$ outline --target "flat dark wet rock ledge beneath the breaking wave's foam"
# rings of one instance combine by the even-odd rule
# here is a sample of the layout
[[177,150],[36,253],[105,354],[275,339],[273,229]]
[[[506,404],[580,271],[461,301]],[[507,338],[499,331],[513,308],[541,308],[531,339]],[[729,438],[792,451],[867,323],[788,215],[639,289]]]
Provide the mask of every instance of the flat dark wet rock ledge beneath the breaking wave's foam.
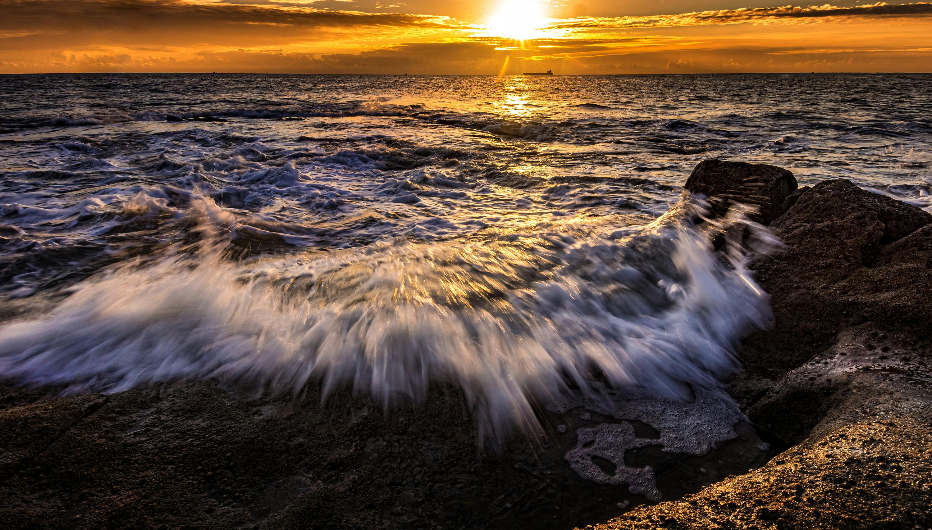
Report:
[[[656,443],[636,421],[583,407],[545,413],[546,436],[496,452],[480,448],[452,387],[388,413],[348,395],[321,405],[312,389],[253,392],[189,383],[5,401],[4,527],[569,528],[648,500],[586,481],[566,460],[577,432],[600,425]],[[761,450],[747,423],[734,429],[705,455],[626,457],[652,466],[657,491],[677,498],[777,453]]]

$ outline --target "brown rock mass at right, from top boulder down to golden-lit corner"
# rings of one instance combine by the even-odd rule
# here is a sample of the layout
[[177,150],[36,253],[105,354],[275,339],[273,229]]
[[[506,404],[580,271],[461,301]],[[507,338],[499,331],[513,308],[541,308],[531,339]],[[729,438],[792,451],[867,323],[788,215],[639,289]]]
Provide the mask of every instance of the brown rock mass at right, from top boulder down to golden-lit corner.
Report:
[[594,528],[932,527],[932,215],[843,179],[796,191],[777,170],[708,160],[686,187],[758,204],[785,244],[751,260],[774,322],[744,341],[730,390],[791,447]]

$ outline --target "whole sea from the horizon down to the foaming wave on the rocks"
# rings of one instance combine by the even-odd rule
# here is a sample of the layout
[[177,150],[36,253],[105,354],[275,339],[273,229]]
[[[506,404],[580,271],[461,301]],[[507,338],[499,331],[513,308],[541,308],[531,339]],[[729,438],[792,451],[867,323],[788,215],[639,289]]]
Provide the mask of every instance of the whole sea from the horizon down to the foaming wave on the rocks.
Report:
[[713,385],[766,294],[654,220],[707,157],[932,208],[930,81],[2,76],[0,374],[453,380],[493,433],[596,379]]

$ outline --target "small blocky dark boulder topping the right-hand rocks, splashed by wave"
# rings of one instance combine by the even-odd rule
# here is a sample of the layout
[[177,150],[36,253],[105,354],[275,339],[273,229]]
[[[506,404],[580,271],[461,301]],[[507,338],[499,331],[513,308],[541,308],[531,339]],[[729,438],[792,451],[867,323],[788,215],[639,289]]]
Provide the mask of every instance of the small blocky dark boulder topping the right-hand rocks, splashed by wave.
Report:
[[796,191],[796,177],[789,170],[765,164],[711,159],[692,170],[684,187],[710,198],[713,213],[727,210],[732,202],[759,207],[759,220],[770,224],[782,214],[787,197]]

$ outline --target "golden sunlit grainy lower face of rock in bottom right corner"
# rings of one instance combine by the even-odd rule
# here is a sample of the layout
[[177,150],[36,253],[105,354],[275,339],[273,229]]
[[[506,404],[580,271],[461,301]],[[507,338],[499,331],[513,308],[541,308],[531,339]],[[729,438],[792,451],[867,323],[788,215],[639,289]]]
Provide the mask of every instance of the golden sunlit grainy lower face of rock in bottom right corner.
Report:
[[[926,528],[932,517],[928,514],[927,480],[932,466],[926,458],[932,456],[929,428],[898,422],[893,427],[871,425],[870,422],[837,428],[788,450],[783,464],[772,461],[762,469],[713,484],[706,490],[675,502],[640,507],[596,530],[653,529],[661,516],[676,517],[680,528],[746,528],[754,522],[760,528],[774,528],[783,520],[787,528],[880,528],[889,521],[896,528]],[[881,434],[882,433],[882,434]],[[870,437],[881,436],[884,444],[864,445]],[[909,455],[910,466],[898,477],[896,486],[872,483],[870,492],[847,484],[865,483],[879,470],[875,464],[842,467],[837,455],[851,452]],[[784,496],[781,490],[792,489],[804,481],[806,498]],[[845,484],[845,485],[841,485]],[[755,507],[763,499],[764,506]],[[695,502],[695,506],[690,504]],[[733,501],[735,505],[731,508]]]

